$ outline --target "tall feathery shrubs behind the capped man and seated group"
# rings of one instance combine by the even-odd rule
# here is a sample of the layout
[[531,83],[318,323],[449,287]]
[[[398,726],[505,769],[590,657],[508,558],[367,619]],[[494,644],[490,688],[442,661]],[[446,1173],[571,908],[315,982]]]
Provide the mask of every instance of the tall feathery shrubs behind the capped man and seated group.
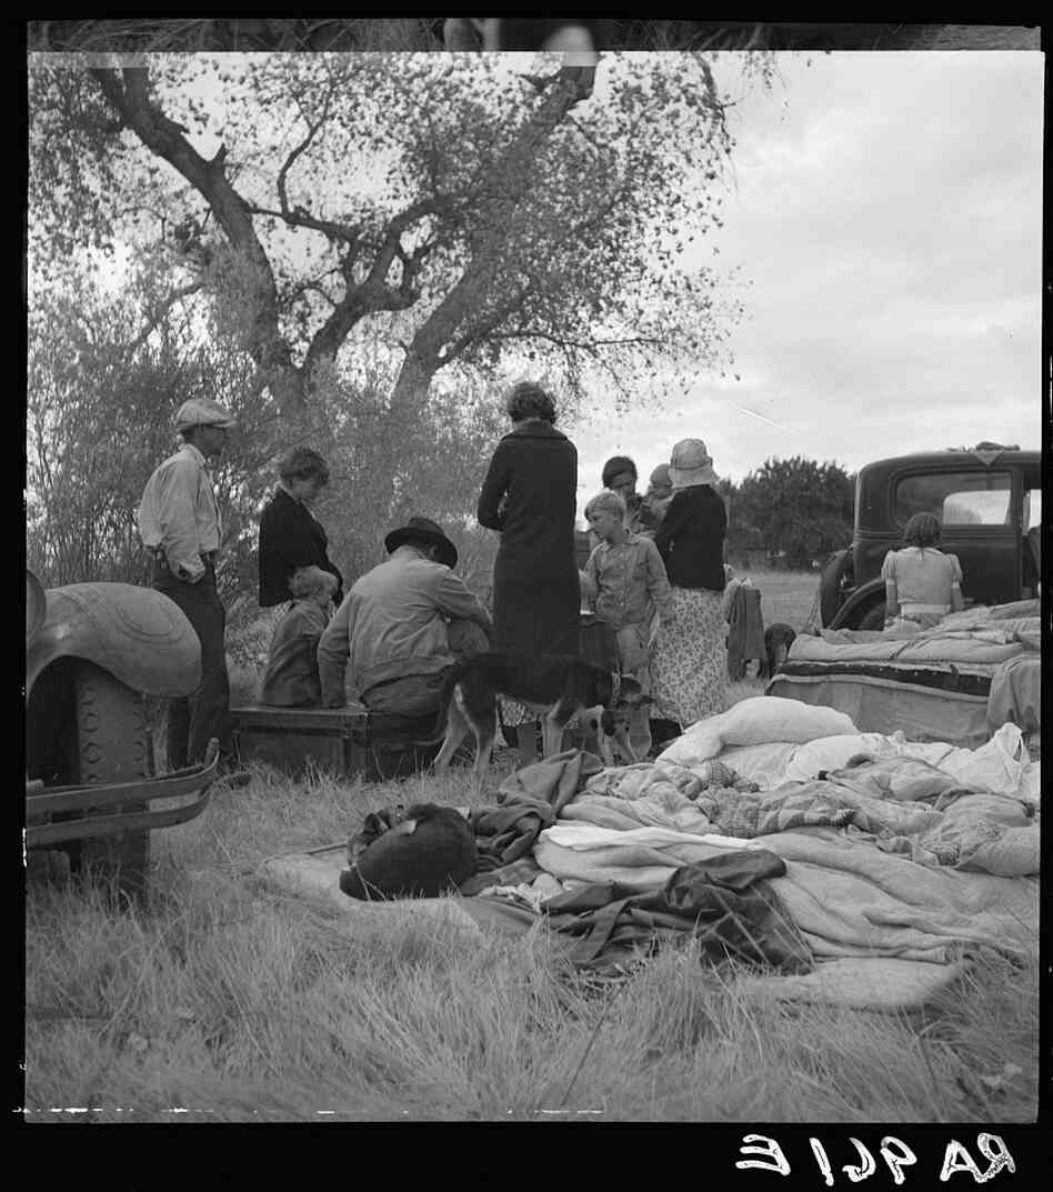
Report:
[[[118,293],[100,294],[81,279],[35,298],[26,548],[45,586],[147,581],[136,522],[143,488],[177,446],[177,406],[219,393],[238,420],[213,466],[224,521],[218,578],[235,631],[257,611],[258,513],[278,479],[276,455],[294,442],[330,462],[318,515],[349,583],[384,557],[387,530],[426,513],[457,544],[460,572],[486,594],[494,545],[468,515],[504,428],[484,393],[436,392],[404,424],[384,361],[367,361],[361,384],[319,380],[314,409],[291,430],[253,384],[253,361],[213,317],[216,308],[200,296],[166,303],[168,284],[158,262],[147,260]],[[148,335],[136,333],[142,325]]]

